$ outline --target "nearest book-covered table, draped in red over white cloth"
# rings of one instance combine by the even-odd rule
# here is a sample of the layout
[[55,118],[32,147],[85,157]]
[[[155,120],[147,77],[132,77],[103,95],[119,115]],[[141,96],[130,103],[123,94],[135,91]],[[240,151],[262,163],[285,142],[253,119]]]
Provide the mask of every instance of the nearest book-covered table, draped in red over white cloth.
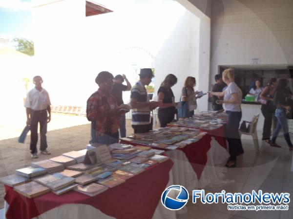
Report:
[[33,162],[0,178],[6,218],[175,219],[160,201],[173,184],[172,165],[166,156],[121,144],[93,144]]

